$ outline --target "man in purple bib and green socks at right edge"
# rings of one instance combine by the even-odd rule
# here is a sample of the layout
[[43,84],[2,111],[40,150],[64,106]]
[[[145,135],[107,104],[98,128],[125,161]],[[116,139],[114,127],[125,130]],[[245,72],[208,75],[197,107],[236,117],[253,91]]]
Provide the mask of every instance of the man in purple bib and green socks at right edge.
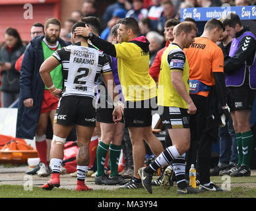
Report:
[[[253,153],[253,133],[250,118],[255,98],[256,37],[248,26],[243,27],[240,17],[230,13],[223,22],[232,40],[229,57],[224,63],[228,106],[236,131],[238,165],[231,176],[250,176],[250,160]],[[248,74],[250,73],[250,74]]]

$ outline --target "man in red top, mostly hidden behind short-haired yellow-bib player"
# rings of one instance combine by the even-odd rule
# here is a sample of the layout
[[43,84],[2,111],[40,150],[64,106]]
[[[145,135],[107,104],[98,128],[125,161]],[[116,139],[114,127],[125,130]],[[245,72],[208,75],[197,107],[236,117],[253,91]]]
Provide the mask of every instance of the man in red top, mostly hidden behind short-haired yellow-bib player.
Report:
[[[177,24],[179,24],[179,20],[175,18],[171,18],[167,20],[166,23],[164,24],[164,36],[166,38],[166,47],[168,47],[170,42],[174,40],[173,30],[174,30],[174,26],[176,26]],[[156,54],[156,58],[154,59],[154,63],[149,69],[150,76],[156,81],[158,81],[158,76],[160,73],[161,58],[166,47],[158,51],[158,53]]]

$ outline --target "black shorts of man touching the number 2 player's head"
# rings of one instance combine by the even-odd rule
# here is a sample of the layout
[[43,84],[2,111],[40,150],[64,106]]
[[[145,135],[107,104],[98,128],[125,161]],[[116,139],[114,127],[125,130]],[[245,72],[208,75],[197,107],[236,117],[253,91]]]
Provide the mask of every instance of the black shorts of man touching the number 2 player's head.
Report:
[[157,99],[139,102],[125,102],[123,117],[125,127],[149,127],[152,125],[152,111],[158,109]]

